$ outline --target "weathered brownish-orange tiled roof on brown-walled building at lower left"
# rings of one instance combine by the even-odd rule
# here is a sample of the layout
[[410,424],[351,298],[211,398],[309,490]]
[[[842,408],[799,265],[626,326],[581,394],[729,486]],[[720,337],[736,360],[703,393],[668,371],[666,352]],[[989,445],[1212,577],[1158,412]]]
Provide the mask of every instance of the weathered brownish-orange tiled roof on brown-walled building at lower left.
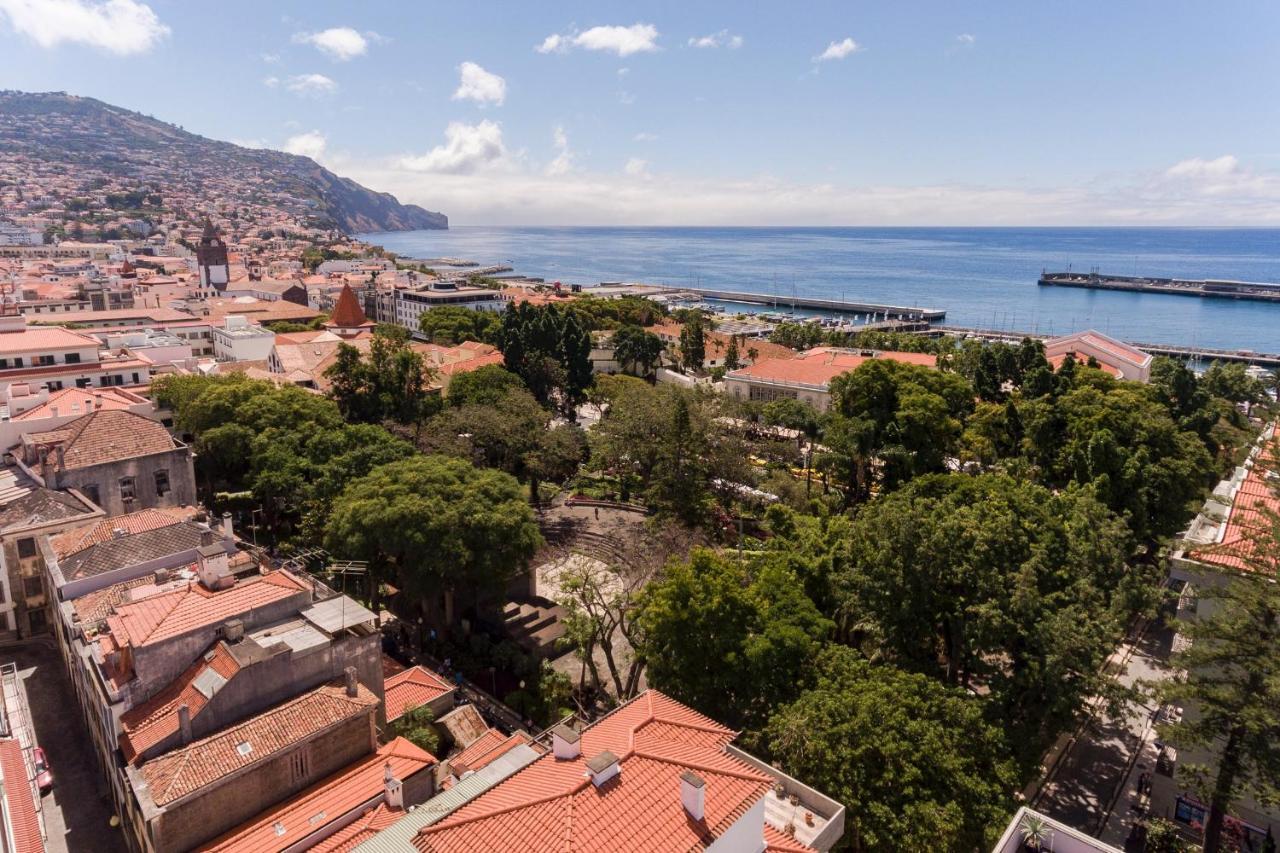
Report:
[[138,772],[146,780],[151,800],[165,806],[375,707],[378,697],[364,685],[357,685],[356,695],[349,697],[340,684],[326,684],[152,758]]

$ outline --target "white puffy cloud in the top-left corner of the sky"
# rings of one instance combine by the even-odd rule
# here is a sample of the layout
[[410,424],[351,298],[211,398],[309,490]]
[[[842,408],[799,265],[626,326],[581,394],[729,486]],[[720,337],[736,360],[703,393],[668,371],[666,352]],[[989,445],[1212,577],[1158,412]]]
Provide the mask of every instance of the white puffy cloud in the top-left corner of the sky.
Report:
[[0,0],[0,13],[41,47],[79,44],[118,56],[145,54],[170,32],[137,0]]

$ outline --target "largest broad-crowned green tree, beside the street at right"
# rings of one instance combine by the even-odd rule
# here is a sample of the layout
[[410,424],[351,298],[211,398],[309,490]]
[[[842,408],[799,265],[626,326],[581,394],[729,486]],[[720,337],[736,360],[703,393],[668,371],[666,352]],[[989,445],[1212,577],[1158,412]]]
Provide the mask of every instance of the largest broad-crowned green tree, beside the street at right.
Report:
[[919,478],[867,505],[836,580],[850,639],[988,694],[1024,758],[1101,690],[1123,633],[1132,538],[1088,491]]

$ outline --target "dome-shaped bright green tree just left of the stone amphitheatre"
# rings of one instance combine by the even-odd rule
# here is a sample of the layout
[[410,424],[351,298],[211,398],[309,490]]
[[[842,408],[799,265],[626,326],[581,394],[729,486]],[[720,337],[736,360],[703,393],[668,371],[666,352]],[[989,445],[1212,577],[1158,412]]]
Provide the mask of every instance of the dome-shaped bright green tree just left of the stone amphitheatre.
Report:
[[439,616],[444,596],[500,596],[541,543],[520,484],[447,456],[380,465],[333,503],[325,547],[367,560],[375,590],[396,583]]

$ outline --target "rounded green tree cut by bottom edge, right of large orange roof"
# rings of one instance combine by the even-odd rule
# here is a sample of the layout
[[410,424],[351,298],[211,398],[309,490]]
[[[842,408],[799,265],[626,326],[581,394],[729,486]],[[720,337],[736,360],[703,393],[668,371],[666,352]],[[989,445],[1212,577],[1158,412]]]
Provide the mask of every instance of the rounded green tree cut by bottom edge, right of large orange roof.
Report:
[[979,699],[828,648],[817,685],[780,708],[768,749],[846,807],[852,850],[988,849],[1016,784]]

